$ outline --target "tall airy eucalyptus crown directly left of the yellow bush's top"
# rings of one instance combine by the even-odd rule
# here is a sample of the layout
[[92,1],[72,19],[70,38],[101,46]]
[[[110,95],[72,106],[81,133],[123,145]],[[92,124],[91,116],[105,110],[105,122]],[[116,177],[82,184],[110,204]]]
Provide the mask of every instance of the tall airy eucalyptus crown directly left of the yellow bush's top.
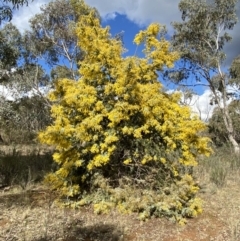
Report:
[[[77,80],[79,77],[77,67],[84,53],[78,47],[75,28],[79,16],[92,9],[83,10],[81,3],[81,0],[50,2],[30,20],[30,30],[25,33],[26,50],[31,53],[26,55],[26,59],[48,64],[53,79],[70,77]],[[94,11],[100,18],[97,10]]]

